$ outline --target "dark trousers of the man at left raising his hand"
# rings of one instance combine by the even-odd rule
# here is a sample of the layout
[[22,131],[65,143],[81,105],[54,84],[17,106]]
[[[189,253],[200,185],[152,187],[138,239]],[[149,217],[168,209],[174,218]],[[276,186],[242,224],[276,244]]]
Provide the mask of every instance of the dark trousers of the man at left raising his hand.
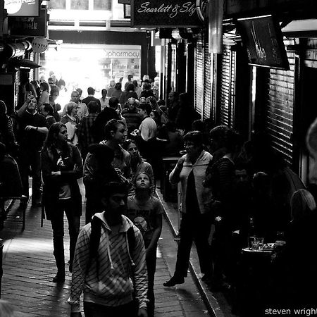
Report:
[[22,194],[29,197],[29,173],[32,176],[32,200],[41,198],[41,158],[39,151],[26,151],[20,149],[18,165],[22,180]]

